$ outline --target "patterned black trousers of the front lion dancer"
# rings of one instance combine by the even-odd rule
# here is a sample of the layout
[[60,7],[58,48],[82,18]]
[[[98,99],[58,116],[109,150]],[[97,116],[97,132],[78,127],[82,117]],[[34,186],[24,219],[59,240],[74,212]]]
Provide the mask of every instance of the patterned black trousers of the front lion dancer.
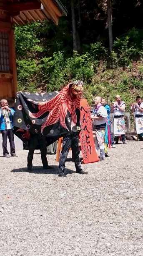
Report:
[[65,170],[65,162],[66,162],[70,147],[72,149],[73,161],[75,162],[76,171],[80,172],[82,170],[80,165],[80,157],[79,157],[80,149],[78,146],[78,135],[68,134],[63,137],[63,148],[62,148],[60,159],[59,159],[60,174],[63,173]]

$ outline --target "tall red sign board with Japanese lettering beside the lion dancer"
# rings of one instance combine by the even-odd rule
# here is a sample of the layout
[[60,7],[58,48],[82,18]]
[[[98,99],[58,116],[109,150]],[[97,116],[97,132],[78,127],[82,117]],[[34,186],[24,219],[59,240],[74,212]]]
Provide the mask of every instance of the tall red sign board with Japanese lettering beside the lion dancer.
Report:
[[80,145],[83,154],[83,163],[98,162],[99,158],[95,150],[95,144],[93,139],[92,120],[90,118],[90,106],[86,98],[80,99]]

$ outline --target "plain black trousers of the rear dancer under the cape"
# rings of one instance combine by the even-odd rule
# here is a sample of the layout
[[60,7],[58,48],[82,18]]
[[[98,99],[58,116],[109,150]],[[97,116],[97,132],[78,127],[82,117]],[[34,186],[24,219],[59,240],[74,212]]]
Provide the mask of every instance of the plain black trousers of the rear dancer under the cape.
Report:
[[35,147],[39,145],[40,146],[40,152],[41,152],[41,159],[43,163],[43,167],[48,165],[47,161],[47,144],[45,137],[39,136],[37,134],[33,134],[30,138],[30,144],[29,144],[29,152],[28,152],[28,168],[32,168],[32,160],[34,155]]

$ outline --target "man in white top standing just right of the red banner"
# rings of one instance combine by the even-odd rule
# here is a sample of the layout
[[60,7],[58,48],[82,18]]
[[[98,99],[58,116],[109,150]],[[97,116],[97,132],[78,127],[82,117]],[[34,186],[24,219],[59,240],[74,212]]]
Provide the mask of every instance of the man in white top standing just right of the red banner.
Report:
[[101,104],[101,97],[95,97],[95,109],[91,114],[91,119],[95,126],[95,146],[96,149],[100,149],[100,161],[104,159],[104,138],[105,138],[105,127],[106,118],[108,116],[107,110]]

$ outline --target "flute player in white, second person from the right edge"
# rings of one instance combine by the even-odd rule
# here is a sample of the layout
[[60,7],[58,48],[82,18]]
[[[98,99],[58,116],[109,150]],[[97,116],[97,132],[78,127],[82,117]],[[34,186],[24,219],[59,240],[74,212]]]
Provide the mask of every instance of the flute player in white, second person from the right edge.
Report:
[[115,96],[115,102],[112,104],[111,112],[114,113],[115,144],[118,144],[120,136],[122,137],[123,144],[125,144],[125,102],[120,99],[120,95]]

